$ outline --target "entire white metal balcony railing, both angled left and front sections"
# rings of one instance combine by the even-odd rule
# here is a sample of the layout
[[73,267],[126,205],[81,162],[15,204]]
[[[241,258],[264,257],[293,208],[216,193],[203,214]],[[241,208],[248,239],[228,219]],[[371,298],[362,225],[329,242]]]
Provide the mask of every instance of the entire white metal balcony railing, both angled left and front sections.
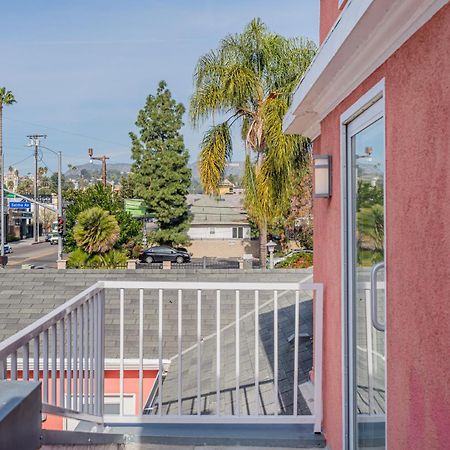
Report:
[[[104,398],[104,359],[105,359],[105,296],[107,290],[108,305],[117,305],[117,316],[108,319],[107,332],[111,327],[118,328],[119,354],[119,390],[120,414],[103,417]],[[311,414],[299,410],[299,349],[302,335],[300,333],[301,300],[311,299],[314,294],[314,404]],[[281,342],[280,333],[283,324],[280,315],[285,318],[280,303],[289,296],[289,317],[294,321],[293,342],[289,360],[290,378],[279,379],[281,370],[280,352],[287,343]],[[208,309],[205,307],[208,306]],[[292,308],[291,308],[292,307]],[[187,313],[186,313],[186,308]],[[154,336],[148,330],[148,316],[153,323]],[[209,316],[205,317],[208,311]],[[273,323],[270,330],[261,328],[263,311],[269,311]],[[224,323],[221,316],[233,317]],[[167,336],[167,323],[171,321],[173,335]],[[244,323],[245,321],[245,323]],[[126,341],[129,340],[130,323],[135,332],[134,348],[138,353],[135,360],[138,367],[137,411],[135,415],[124,414],[126,361],[132,355],[126,354]],[[205,326],[207,323],[208,326]],[[134,325],[136,324],[136,325]],[[251,326],[250,326],[251,325]],[[250,328],[249,328],[250,326]],[[128,327],[128,328],[127,328]],[[311,324],[312,327],[312,324]],[[59,330],[57,336],[56,330]],[[250,329],[250,331],[248,331]],[[314,431],[321,431],[322,422],[322,330],[323,330],[323,286],[318,283],[233,283],[233,282],[134,282],[134,281],[99,281],[91,288],[74,297],[69,302],[55,309],[52,313],[38,320],[15,336],[0,344],[0,378],[17,378],[17,355],[22,351],[23,378],[29,377],[29,346],[33,344],[34,365],[39,366],[43,379],[43,403],[45,411],[64,416],[73,416],[85,420],[106,423],[310,423]],[[47,345],[50,331],[50,352]],[[270,331],[269,333],[267,333]],[[270,342],[261,351],[262,336]],[[251,334],[251,336],[249,336]],[[267,335],[269,338],[267,338]],[[190,336],[187,339],[186,336]],[[109,339],[107,335],[107,339]],[[127,340],[128,339],[128,340]],[[172,355],[167,353],[165,344],[172,340]],[[152,344],[153,354],[148,354],[148,344]],[[145,344],[145,345],[144,345]],[[42,346],[42,352],[40,351]],[[158,376],[149,397],[154,401],[149,405],[148,392],[144,392],[144,347],[146,357],[158,361]],[[283,347],[284,346],[284,347]],[[227,366],[226,349],[234,349],[233,361]],[[247,357],[242,357],[242,349],[250,349]],[[202,358],[206,349],[214,353],[213,364],[207,372],[202,368]],[[293,355],[292,355],[293,352]],[[106,355],[111,356],[111,355]],[[171,356],[170,369],[167,370],[167,357]],[[229,356],[229,355],[228,355]],[[165,359],[166,358],[166,359]],[[190,358],[190,359],[189,359]],[[251,359],[251,361],[245,360]],[[267,367],[263,363],[271,362],[271,374],[267,376]],[[63,361],[65,374],[59,379],[57,395],[57,371]],[[188,362],[186,362],[188,361]],[[283,361],[283,364],[286,362]],[[189,371],[191,380],[186,379],[183,369],[192,364]],[[266,364],[267,365],[267,364]],[[196,366],[196,367],[194,367]],[[243,380],[244,367],[251,367],[252,380]],[[10,372],[7,376],[7,368]],[[191,367],[188,367],[190,369]],[[265,372],[264,372],[265,370]],[[49,375],[49,371],[51,374]],[[172,372],[173,371],[173,372]],[[176,374],[173,383],[171,402],[165,402],[164,385],[169,383],[171,375]],[[211,373],[212,372],[212,373]],[[248,372],[248,371],[247,371]],[[264,373],[263,373],[264,372]],[[39,374],[33,372],[34,379]],[[174,375],[175,376],[175,375]],[[224,380],[231,386],[227,396],[233,398],[232,413],[223,413],[226,403]],[[280,377],[281,378],[281,377]],[[212,389],[205,393],[206,379],[210,380]],[[282,386],[281,383],[284,383]],[[269,402],[278,405],[282,391],[289,383],[289,395],[292,398],[284,403],[289,406],[283,411],[274,408],[267,412],[262,404],[262,392]],[[182,405],[186,399],[186,385],[191,385],[188,395],[196,407],[190,413],[183,412]],[[252,388],[252,402],[255,411],[246,413],[240,407],[243,396],[248,397],[248,385]],[[268,385],[272,385],[271,393]],[[166,386],[169,386],[166,384]],[[192,387],[194,386],[194,387]],[[49,396],[51,387],[51,396]],[[208,389],[206,389],[208,391]],[[215,411],[203,411],[201,403],[205,398],[214,399]],[[191,401],[191,400],[189,400]],[[176,414],[164,411],[167,404],[176,409]],[[149,413],[150,412],[150,413]]]

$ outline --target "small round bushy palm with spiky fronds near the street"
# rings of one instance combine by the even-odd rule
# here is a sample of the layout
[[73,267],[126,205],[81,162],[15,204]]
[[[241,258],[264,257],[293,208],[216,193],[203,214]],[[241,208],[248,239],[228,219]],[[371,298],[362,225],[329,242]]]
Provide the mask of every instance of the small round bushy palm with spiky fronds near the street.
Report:
[[120,227],[115,216],[94,206],[81,212],[73,229],[78,246],[87,253],[106,253],[118,241]]

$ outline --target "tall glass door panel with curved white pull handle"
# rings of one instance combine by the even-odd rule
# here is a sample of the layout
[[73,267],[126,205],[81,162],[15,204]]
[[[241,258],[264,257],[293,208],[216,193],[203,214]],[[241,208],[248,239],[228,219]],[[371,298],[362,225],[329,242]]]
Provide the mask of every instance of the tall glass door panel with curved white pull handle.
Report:
[[351,163],[348,174],[351,448],[384,449],[384,120],[381,115],[374,116],[373,110],[370,114],[369,109],[348,126],[347,141]]

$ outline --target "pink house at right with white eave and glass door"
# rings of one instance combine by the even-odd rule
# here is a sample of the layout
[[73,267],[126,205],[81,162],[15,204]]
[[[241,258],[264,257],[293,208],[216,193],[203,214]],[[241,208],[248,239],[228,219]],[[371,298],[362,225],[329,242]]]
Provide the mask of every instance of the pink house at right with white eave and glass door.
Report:
[[323,432],[333,450],[446,448],[450,5],[320,3],[284,130],[313,142]]

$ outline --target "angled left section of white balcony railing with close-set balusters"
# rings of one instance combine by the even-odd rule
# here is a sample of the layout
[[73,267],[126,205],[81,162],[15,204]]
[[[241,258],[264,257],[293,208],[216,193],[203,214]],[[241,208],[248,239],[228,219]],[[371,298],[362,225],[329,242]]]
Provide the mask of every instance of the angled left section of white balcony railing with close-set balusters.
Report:
[[101,422],[103,367],[104,289],[98,283],[0,343],[0,379],[40,380],[49,414]]

